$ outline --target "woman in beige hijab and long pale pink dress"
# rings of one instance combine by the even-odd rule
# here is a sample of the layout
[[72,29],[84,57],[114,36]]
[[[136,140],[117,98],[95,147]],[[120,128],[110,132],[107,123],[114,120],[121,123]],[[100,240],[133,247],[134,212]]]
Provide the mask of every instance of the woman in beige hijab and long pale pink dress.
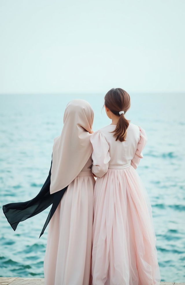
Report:
[[62,133],[54,139],[50,193],[68,187],[49,222],[45,285],[90,284],[93,117],[88,102],[72,100],[64,113]]

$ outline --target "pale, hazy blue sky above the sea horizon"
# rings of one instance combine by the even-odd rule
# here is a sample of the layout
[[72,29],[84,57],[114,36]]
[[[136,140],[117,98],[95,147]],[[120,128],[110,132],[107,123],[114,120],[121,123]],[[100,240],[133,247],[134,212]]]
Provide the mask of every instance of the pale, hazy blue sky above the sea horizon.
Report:
[[185,92],[184,0],[0,0],[0,94]]

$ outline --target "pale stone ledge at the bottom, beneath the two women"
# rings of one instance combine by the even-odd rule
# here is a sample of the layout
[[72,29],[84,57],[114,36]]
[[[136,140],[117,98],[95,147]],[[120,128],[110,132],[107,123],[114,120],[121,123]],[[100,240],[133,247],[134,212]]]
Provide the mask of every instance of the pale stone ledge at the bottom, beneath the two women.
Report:
[[[44,278],[0,277],[0,285],[44,285]],[[160,282],[160,285],[185,285],[185,283]]]

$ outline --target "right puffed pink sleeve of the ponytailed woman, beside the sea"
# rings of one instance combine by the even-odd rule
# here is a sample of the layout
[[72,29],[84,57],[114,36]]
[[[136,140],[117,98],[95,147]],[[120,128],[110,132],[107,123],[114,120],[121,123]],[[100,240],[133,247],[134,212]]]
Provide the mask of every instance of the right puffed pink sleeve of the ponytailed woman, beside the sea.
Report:
[[138,167],[139,161],[141,158],[143,158],[142,151],[147,143],[147,135],[145,133],[145,130],[139,127],[140,130],[140,140],[137,145],[136,152],[134,154],[134,157],[132,158],[131,165],[136,169]]

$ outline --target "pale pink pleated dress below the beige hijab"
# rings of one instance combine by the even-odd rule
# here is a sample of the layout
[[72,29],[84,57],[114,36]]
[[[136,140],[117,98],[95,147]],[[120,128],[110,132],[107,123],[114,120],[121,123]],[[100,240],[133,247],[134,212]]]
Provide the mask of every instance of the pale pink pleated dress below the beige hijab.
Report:
[[45,285],[89,285],[95,184],[91,166],[90,158],[49,222]]

